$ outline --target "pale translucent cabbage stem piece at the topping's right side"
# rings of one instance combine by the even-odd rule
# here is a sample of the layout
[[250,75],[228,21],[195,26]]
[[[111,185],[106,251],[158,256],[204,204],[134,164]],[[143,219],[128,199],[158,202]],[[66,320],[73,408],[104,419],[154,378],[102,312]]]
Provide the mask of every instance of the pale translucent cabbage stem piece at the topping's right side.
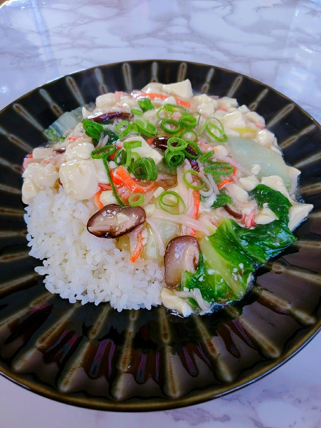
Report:
[[229,146],[232,158],[244,166],[244,168],[250,170],[254,164],[261,166],[257,174],[259,179],[267,175],[279,175],[284,181],[285,187],[287,189],[291,188],[288,168],[279,153],[273,152],[259,143],[245,138],[229,137],[225,144]]

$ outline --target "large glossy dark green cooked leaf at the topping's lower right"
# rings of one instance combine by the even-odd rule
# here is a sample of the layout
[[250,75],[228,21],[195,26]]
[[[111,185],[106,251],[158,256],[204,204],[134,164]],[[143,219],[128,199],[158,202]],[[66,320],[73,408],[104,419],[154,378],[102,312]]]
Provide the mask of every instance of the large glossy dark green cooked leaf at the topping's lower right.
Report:
[[[208,301],[239,299],[247,289],[254,268],[296,241],[288,229],[291,204],[282,193],[259,184],[250,196],[259,207],[268,204],[278,220],[251,229],[242,228],[232,219],[224,220],[214,235],[200,242],[204,260],[195,274],[182,275],[182,288],[199,288]],[[234,297],[227,286],[233,290]]]

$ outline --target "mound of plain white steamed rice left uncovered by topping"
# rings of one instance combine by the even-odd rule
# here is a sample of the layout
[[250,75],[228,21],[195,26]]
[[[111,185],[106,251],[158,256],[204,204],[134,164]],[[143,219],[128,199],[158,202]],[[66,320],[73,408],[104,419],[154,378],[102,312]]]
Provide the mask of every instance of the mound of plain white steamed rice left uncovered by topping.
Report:
[[73,200],[60,187],[41,190],[26,211],[29,254],[45,259],[35,270],[47,275],[48,291],[70,303],[110,302],[119,312],[161,304],[163,263],[130,265],[130,254],[113,239],[90,234],[87,221],[97,211],[92,202]]

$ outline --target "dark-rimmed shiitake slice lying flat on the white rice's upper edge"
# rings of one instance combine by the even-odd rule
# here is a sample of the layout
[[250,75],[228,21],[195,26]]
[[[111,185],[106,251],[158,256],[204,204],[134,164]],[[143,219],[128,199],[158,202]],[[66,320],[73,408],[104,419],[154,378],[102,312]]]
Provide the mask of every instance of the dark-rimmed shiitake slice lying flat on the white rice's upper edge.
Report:
[[90,217],[87,230],[99,238],[119,238],[143,224],[145,220],[146,213],[141,207],[122,208],[109,204]]

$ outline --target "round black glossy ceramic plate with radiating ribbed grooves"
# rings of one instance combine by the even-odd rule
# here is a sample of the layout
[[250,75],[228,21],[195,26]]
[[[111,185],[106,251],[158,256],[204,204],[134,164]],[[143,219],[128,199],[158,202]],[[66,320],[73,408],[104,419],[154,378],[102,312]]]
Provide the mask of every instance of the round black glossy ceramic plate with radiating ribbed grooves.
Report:
[[[182,319],[163,307],[122,311],[50,294],[28,256],[20,165],[64,111],[104,92],[189,78],[265,118],[315,205],[298,241],[259,272],[241,302]],[[54,80],[0,112],[0,371],[33,392],[77,406],[145,411],[196,404],[266,375],[321,326],[321,128],[275,90],[209,65],[132,61]]]

